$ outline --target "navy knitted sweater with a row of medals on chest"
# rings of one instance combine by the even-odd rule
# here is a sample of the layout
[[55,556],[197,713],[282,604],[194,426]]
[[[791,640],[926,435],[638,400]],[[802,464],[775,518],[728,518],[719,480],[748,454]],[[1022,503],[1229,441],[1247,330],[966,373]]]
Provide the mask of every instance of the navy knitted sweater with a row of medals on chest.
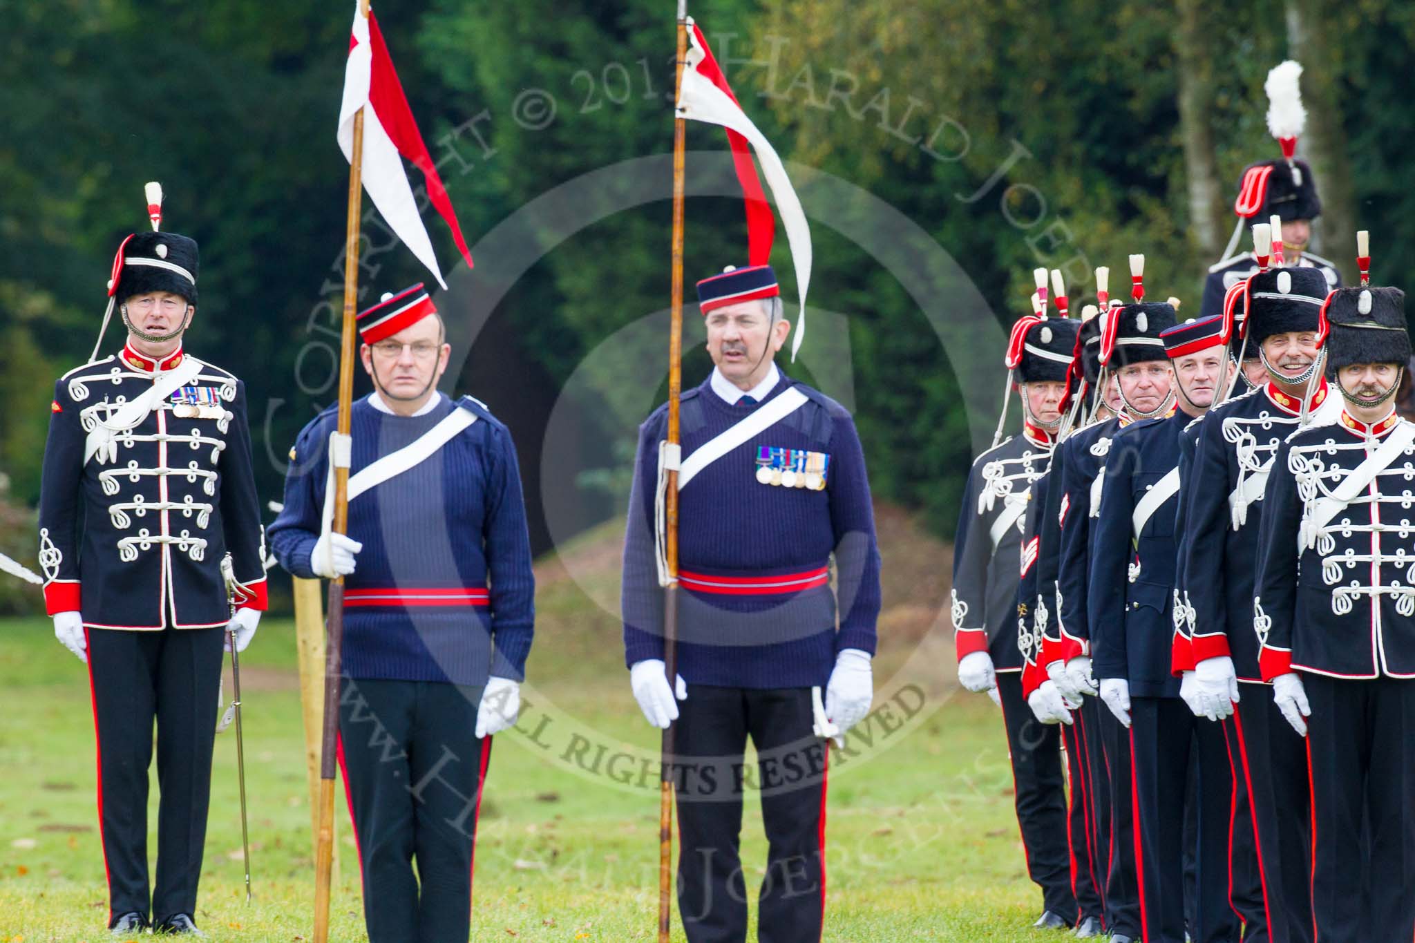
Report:
[[[729,404],[708,382],[682,396],[682,454],[797,387],[801,409],[700,471],[679,492],[678,673],[691,684],[825,684],[842,649],[874,653],[880,554],[865,454],[850,414],[785,375],[761,404]],[[640,427],[624,539],[625,663],[664,657],[654,564],[654,484],[668,407]],[[758,447],[829,455],[824,491],[760,484]],[[809,574],[835,560],[835,591]],[[764,591],[795,582],[802,590]],[[836,602],[839,601],[839,629]]]

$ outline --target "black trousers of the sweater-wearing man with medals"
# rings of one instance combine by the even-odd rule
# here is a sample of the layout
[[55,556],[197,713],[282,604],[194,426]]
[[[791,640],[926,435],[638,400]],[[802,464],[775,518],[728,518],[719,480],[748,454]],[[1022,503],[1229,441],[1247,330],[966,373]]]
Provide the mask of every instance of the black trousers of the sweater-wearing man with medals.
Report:
[[[678,912],[691,943],[747,939],[739,857],[741,797],[761,790],[767,872],[761,943],[816,943],[825,918],[825,742],[811,732],[811,689],[691,684],[678,704]],[[757,748],[749,768],[747,738]]]

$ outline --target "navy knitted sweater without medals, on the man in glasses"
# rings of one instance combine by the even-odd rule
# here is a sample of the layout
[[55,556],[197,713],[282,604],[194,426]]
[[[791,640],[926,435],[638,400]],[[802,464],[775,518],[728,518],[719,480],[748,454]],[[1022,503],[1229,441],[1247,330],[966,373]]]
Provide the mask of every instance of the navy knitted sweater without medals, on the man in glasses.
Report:
[[[350,502],[364,544],[345,578],[344,674],[481,686],[522,680],[535,623],[535,575],[516,451],[480,403],[447,397],[423,416],[354,403],[354,475],[410,444],[456,409],[477,420],[419,465]],[[327,410],[304,427],[269,540],[280,566],[313,577],[330,431]]]

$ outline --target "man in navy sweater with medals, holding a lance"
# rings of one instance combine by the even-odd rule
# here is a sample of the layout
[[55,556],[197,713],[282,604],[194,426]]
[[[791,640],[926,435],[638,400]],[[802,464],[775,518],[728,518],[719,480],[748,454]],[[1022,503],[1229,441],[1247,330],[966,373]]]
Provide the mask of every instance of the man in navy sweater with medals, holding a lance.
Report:
[[[841,732],[866,715],[873,694],[880,556],[865,455],[850,414],[773,362],[791,325],[770,266],[705,279],[698,298],[716,366],[682,394],[675,687],[655,564],[666,407],[640,427],[624,539],[625,662],[648,722],[676,721],[688,939],[746,940],[737,847],[743,785],[756,782],[771,843],[758,939],[819,940],[828,756],[812,689],[826,689],[825,714]],[[749,737],[754,769],[744,765]]]

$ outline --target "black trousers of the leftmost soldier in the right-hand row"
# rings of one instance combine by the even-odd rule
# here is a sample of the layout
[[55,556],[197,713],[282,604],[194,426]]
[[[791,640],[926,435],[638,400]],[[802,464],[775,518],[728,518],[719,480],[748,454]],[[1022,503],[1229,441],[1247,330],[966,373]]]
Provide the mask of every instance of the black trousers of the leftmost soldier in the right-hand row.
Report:
[[1002,718],[1012,752],[1017,826],[1027,855],[1027,875],[1041,888],[1041,906],[1075,923],[1061,731],[1058,724],[1037,721],[1022,697],[1019,672],[998,674],[998,693],[1002,696]]

